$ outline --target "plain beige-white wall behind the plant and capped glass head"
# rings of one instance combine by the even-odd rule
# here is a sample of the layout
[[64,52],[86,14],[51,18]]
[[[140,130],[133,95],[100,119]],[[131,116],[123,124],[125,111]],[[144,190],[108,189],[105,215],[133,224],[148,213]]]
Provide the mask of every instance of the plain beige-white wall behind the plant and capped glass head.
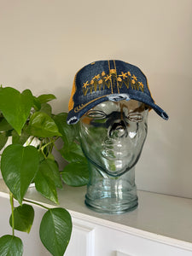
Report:
[[0,83],[55,94],[58,113],[91,61],[141,67],[170,120],[149,114],[137,188],[192,197],[191,27],[191,0],[0,0]]

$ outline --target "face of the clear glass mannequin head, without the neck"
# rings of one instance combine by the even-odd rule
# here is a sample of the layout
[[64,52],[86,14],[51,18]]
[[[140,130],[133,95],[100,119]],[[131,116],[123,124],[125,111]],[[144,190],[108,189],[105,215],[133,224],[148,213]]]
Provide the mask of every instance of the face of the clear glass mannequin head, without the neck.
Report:
[[147,136],[148,108],[134,100],[102,102],[79,120],[81,147],[90,163],[111,176],[135,166]]

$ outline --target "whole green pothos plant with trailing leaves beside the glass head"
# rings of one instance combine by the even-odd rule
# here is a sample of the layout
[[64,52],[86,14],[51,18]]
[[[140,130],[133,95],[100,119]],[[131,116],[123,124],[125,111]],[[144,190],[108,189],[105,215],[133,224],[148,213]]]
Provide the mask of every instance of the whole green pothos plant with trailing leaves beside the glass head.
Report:
[[[57,189],[62,188],[63,182],[70,186],[83,186],[88,182],[87,161],[79,146],[76,127],[67,125],[67,113],[52,113],[48,102],[54,99],[52,94],[37,97],[31,90],[20,93],[12,87],[0,87],[1,172],[9,189],[12,230],[11,235],[0,237],[1,256],[20,256],[23,253],[23,243],[15,236],[15,230],[27,233],[31,230],[32,204],[36,203],[25,199],[31,183],[41,195],[59,205]],[[9,144],[8,138],[11,138]],[[60,149],[55,145],[58,139],[63,141]],[[52,153],[53,148],[68,162],[61,171]],[[19,207],[15,207],[15,201],[19,202]],[[61,256],[72,232],[70,213],[62,207],[44,208],[40,239],[49,253]]]

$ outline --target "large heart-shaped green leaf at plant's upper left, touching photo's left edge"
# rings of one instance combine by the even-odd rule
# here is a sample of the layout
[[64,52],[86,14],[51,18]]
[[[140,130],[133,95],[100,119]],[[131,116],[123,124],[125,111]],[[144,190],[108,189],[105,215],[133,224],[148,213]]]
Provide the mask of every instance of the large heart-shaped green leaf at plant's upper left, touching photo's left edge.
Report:
[[0,90],[0,109],[4,118],[18,134],[29,116],[33,102],[32,97],[31,90],[24,90],[22,93],[11,87]]

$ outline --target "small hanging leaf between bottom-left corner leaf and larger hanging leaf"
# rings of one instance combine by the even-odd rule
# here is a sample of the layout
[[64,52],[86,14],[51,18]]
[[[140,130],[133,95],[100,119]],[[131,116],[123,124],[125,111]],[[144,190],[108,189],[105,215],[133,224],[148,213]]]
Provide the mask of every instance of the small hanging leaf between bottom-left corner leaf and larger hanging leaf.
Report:
[[[34,219],[34,210],[32,206],[22,205],[14,209],[14,228],[29,233]],[[9,224],[12,226],[12,215],[9,218]]]

